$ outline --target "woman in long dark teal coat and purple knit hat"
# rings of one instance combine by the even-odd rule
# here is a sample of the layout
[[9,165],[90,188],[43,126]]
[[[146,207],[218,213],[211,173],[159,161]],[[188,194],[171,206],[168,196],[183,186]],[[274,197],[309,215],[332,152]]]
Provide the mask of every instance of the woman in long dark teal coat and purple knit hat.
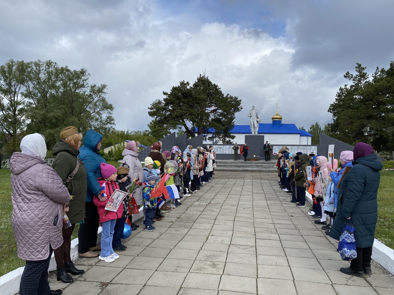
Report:
[[372,246],[377,222],[377,190],[383,165],[369,144],[359,142],[353,150],[353,168],[343,177],[338,192],[338,205],[331,238],[339,239],[342,229],[350,218],[355,226],[357,258],[350,267],[341,267],[347,275],[363,277],[371,275]]

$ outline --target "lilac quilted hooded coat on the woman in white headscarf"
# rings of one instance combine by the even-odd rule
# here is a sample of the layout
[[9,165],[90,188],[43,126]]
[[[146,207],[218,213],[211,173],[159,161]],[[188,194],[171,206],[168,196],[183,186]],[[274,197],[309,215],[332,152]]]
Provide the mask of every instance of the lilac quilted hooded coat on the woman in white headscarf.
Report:
[[70,201],[70,194],[55,170],[37,156],[13,153],[10,170],[11,225],[18,257],[44,260],[49,256],[49,243],[53,249],[63,243],[62,204]]

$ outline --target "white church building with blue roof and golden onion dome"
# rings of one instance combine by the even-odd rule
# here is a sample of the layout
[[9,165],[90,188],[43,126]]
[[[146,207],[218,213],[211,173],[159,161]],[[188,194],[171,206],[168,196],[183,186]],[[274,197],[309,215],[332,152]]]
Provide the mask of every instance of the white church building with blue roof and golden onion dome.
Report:
[[[258,134],[264,135],[264,141],[268,140],[270,144],[286,144],[286,145],[311,145],[312,135],[305,130],[300,130],[295,124],[283,124],[282,116],[276,114],[272,116],[272,123],[259,123]],[[203,144],[221,144],[221,142],[214,142],[215,130],[210,129],[211,133],[203,135]],[[234,125],[231,131],[235,138],[232,140],[237,144],[245,143],[245,135],[252,134],[250,125]],[[208,137],[214,136],[213,140],[208,140]]]

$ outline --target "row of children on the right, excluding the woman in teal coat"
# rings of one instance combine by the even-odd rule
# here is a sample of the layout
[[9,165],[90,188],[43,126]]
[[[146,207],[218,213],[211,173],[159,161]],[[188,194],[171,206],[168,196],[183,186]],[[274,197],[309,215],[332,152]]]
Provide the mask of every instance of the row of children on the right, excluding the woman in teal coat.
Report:
[[[310,155],[301,152],[290,153],[286,146],[282,146],[278,152],[276,165],[279,176],[278,184],[284,192],[291,194],[290,202],[295,203],[297,207],[305,207],[308,192],[313,200],[309,215],[314,219],[314,223],[322,225],[322,230],[325,230],[328,236],[336,214],[338,184],[344,172],[352,167],[353,152],[342,151],[339,159],[340,168],[338,168],[337,159],[332,159],[333,163],[329,164],[324,156],[314,155],[314,153]],[[308,170],[310,175],[308,175]],[[329,216],[328,223],[327,216]]]

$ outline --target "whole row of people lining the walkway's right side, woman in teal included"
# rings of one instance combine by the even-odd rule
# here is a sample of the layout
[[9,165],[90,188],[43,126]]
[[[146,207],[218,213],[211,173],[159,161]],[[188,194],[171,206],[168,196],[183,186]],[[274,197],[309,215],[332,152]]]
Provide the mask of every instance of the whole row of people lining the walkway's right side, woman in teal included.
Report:
[[324,156],[291,152],[282,146],[277,159],[278,183],[282,190],[291,194],[290,202],[297,207],[305,207],[306,192],[309,192],[313,200],[309,215],[331,238],[338,241],[344,225],[350,220],[355,226],[357,258],[340,271],[363,277],[372,274],[377,190],[383,165],[372,146],[363,142],[356,144],[353,151],[342,151],[339,160],[340,168],[336,159],[331,159],[329,164]]

